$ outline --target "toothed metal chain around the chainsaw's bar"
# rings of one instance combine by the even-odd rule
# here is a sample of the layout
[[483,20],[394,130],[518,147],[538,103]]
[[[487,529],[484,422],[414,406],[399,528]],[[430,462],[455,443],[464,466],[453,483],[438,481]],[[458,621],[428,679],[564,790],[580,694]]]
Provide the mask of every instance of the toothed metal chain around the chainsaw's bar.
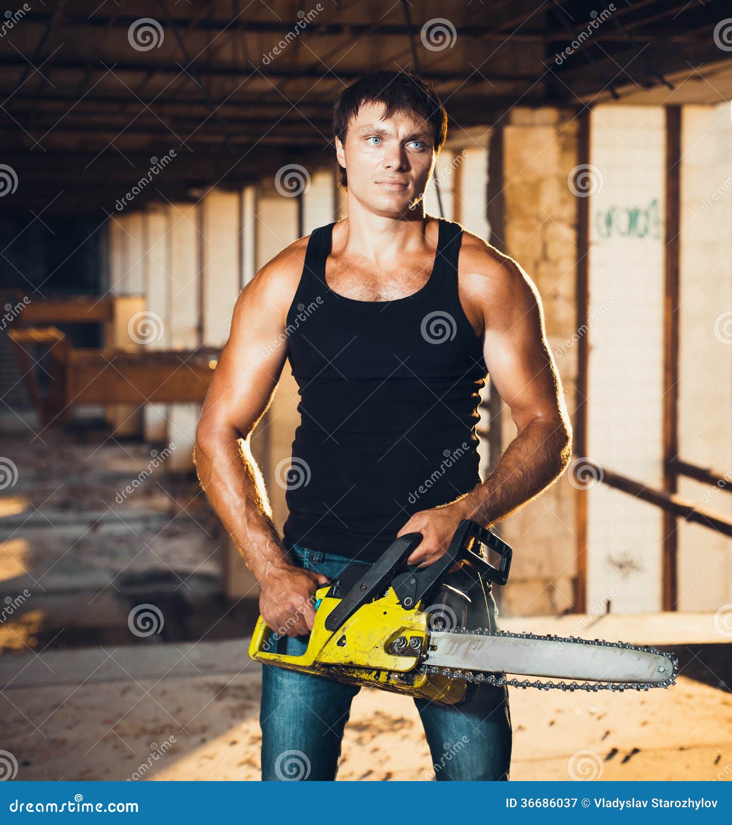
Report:
[[676,683],[676,676],[678,676],[678,659],[671,653],[665,653],[656,648],[647,647],[645,645],[630,644],[627,642],[603,642],[601,639],[580,639],[577,636],[555,636],[553,634],[538,635],[534,633],[511,633],[509,630],[489,630],[486,628],[470,629],[466,627],[448,628],[451,634],[470,634],[474,636],[501,636],[509,639],[540,639],[544,642],[556,643],[572,643],[572,644],[590,644],[601,648],[626,648],[632,650],[641,650],[644,653],[657,653],[663,656],[673,664],[673,671],[671,676],[664,681],[539,681],[538,679],[516,679],[507,678],[506,676],[495,675],[494,673],[474,672],[464,669],[453,669],[450,667],[435,667],[434,665],[422,664],[415,668],[417,673],[426,673],[428,675],[449,676],[451,678],[464,679],[465,681],[481,682],[486,685],[495,687],[503,687],[509,685],[512,687],[536,687],[540,691],[550,691],[552,689],[557,691],[648,691],[652,687],[669,687]]

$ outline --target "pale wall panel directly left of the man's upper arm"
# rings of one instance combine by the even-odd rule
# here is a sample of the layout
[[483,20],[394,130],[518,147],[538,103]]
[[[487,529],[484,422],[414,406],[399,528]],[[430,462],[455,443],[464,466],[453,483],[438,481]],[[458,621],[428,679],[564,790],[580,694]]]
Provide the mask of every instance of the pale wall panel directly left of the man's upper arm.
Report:
[[214,189],[204,197],[203,323],[204,346],[223,347],[242,281],[240,269],[241,205],[238,192]]

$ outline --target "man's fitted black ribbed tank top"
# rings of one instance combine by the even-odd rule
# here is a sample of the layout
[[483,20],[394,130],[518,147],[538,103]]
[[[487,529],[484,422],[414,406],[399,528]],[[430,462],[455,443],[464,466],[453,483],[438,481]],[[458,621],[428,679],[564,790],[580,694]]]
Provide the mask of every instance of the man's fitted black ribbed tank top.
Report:
[[284,479],[284,540],[373,561],[413,513],[480,483],[487,370],[458,297],[460,224],[439,219],[429,281],[392,301],[345,298],[326,284],[334,225],[311,234],[287,318],[301,422]]

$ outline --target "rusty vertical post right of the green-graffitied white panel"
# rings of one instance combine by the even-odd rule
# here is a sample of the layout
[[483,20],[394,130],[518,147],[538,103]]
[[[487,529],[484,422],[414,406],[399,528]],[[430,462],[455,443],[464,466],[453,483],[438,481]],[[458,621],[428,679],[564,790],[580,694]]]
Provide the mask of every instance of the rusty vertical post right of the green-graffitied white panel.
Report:
[[[681,210],[681,106],[666,107],[666,229],[664,243],[664,479],[666,493],[678,490],[673,461],[678,456],[678,301]],[[678,601],[678,534],[676,516],[664,510],[664,610],[676,610]]]

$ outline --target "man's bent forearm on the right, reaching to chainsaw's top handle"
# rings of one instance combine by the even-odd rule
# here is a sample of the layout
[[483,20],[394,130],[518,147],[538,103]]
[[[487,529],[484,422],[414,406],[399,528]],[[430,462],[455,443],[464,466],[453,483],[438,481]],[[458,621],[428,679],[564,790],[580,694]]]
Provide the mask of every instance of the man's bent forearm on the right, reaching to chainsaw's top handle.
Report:
[[454,503],[479,524],[500,521],[558,479],[571,452],[571,433],[564,423],[536,418],[511,441],[493,473]]

